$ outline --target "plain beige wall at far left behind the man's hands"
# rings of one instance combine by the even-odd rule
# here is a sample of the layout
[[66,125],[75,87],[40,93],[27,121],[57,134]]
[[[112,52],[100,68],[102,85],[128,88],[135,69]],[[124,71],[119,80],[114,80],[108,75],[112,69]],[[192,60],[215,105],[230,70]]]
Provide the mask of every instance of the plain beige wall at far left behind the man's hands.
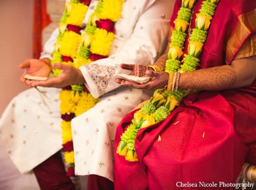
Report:
[[32,58],[34,0],[0,0],[0,117],[15,95],[29,87],[19,64]]

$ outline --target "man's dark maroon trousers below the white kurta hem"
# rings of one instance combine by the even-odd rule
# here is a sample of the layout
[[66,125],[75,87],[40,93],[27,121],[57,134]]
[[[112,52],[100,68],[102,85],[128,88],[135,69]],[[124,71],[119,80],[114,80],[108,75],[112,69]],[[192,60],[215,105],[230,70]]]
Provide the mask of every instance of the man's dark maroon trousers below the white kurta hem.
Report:
[[[60,152],[55,153],[34,168],[41,190],[75,190],[75,185],[66,175]],[[113,182],[102,176],[88,176],[87,190],[113,190]]]

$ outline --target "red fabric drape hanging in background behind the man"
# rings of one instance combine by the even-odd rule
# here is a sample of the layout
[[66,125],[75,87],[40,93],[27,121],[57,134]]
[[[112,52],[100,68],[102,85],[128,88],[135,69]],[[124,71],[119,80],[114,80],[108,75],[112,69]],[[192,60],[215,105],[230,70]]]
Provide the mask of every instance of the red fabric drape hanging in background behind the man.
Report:
[[46,12],[46,0],[34,1],[33,58],[38,59],[42,51],[42,30],[52,21]]

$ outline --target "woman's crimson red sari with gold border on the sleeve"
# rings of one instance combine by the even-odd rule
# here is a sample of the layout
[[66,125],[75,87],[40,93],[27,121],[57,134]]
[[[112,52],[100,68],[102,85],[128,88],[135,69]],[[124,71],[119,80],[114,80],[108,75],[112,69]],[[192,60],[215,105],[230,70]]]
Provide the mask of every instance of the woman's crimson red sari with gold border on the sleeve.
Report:
[[[198,0],[195,6],[192,29],[202,1]],[[180,6],[181,0],[176,0],[171,30]],[[247,53],[239,51],[256,33],[255,11],[255,0],[220,0],[198,69],[256,55],[255,49]],[[164,121],[138,131],[135,149],[139,161],[129,162],[115,150],[134,112],[129,113],[116,130],[115,190],[189,190],[197,187],[179,186],[199,186],[199,182],[216,183],[218,186],[212,189],[231,189],[220,187],[220,182],[235,183],[247,146],[256,142],[256,81],[239,89],[203,91],[183,98]]]

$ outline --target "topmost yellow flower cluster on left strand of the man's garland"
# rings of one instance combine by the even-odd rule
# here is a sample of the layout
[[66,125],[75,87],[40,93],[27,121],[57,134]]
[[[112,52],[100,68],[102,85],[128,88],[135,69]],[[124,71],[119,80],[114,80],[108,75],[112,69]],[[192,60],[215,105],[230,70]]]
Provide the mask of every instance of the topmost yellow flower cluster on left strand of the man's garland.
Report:
[[88,6],[82,3],[69,2],[67,4],[67,12],[68,14],[70,14],[70,16],[67,17],[66,23],[81,27],[85,14],[87,12],[87,9],[88,9]]

